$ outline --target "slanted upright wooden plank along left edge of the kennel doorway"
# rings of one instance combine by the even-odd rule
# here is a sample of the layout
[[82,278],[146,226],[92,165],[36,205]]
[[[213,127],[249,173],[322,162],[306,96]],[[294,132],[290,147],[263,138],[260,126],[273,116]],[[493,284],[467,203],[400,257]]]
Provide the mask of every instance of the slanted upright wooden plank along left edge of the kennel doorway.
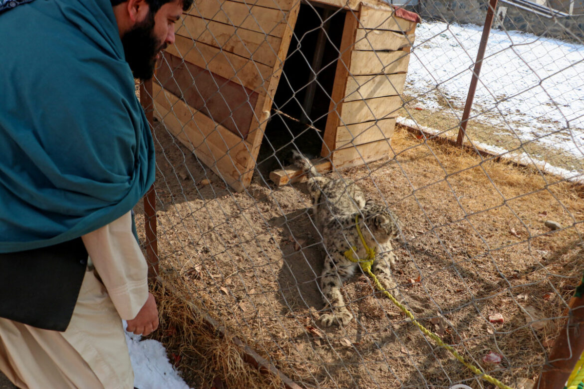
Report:
[[278,61],[272,69],[272,78],[270,78],[269,82],[267,82],[267,87],[265,88],[266,93],[260,94],[258,104],[256,104],[254,121],[252,122],[248,135],[248,141],[252,143],[251,156],[248,160],[248,170],[241,178],[241,183],[244,185],[244,187],[248,187],[252,180],[253,170],[255,169],[259,148],[262,145],[263,133],[266,129],[267,120],[270,117],[270,109],[272,108],[274,94],[276,94],[276,88],[280,82],[281,72],[284,68],[284,58],[286,58],[288,53],[288,47],[290,47],[290,40],[294,32],[294,26],[296,25],[299,11],[300,2],[297,2],[294,4],[290,12],[288,12],[288,18],[286,19],[286,29],[284,30],[282,43],[280,44],[280,48],[278,50]]

